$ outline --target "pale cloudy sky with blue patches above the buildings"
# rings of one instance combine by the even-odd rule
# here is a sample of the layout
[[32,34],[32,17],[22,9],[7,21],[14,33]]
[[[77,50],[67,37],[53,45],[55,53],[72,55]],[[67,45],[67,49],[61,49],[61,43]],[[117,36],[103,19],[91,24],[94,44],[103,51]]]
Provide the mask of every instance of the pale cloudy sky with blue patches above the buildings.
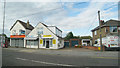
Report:
[[[19,2],[20,1],[20,2]],[[92,36],[91,30],[99,25],[98,10],[101,20],[118,20],[118,1],[7,1],[5,8],[5,34],[10,36],[10,28],[21,20],[30,21],[34,27],[42,22],[49,26],[57,26],[63,37],[70,31],[74,36]],[[0,33],[3,25],[3,6],[0,1]]]

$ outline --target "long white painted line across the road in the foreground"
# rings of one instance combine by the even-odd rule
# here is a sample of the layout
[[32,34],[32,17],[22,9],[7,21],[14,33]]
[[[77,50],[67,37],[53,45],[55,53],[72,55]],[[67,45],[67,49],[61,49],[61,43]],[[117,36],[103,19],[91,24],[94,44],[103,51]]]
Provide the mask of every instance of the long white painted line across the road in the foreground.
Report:
[[23,58],[16,58],[18,60],[23,60],[23,61],[32,61],[36,63],[42,63],[42,64],[49,64],[49,65],[58,65],[58,66],[75,66],[75,65],[68,65],[68,64],[58,64],[58,63],[50,63],[50,62],[43,62],[43,61],[36,61],[36,60],[29,60],[29,59],[23,59]]

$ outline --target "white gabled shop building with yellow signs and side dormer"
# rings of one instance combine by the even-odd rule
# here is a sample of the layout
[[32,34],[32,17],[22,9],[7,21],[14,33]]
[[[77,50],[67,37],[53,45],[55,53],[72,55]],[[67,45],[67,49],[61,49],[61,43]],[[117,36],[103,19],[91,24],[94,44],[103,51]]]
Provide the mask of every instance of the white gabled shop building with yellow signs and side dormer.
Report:
[[62,31],[56,26],[38,23],[25,37],[26,48],[59,49],[64,47]]

